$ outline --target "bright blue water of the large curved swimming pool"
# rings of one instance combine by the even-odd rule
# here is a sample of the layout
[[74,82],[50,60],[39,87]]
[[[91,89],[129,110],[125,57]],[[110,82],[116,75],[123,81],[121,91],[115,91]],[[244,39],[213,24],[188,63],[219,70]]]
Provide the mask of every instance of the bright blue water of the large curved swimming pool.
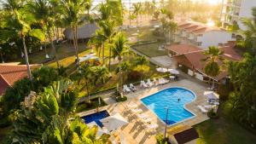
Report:
[[[180,101],[178,101],[180,99]],[[144,105],[152,110],[163,122],[166,123],[166,107],[169,107],[166,124],[175,124],[194,116],[184,106],[195,99],[195,95],[188,89],[169,88],[161,90],[154,95],[143,98]]]

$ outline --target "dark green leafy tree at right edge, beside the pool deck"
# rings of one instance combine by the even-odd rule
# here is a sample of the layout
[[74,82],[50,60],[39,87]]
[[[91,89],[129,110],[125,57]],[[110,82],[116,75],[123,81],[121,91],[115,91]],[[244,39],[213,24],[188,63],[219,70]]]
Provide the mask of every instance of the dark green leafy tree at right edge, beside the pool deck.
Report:
[[256,125],[256,58],[246,54],[241,61],[228,63],[234,91],[230,94],[231,114],[241,124]]

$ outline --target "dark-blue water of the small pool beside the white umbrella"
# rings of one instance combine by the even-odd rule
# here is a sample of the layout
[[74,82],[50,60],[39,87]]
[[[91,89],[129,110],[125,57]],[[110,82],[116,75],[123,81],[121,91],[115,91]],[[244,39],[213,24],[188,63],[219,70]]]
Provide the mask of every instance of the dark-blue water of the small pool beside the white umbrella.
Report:
[[103,118],[107,118],[109,116],[107,111],[96,112],[90,115],[82,117],[84,119],[85,124],[89,124],[92,121],[95,121],[100,127],[103,127],[102,122],[100,121]]

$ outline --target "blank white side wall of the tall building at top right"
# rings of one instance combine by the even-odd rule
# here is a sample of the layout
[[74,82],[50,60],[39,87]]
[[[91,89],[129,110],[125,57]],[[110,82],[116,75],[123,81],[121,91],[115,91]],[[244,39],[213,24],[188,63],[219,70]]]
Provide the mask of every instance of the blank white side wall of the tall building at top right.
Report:
[[[241,8],[239,12],[239,18],[247,17],[252,18],[252,8],[256,7],[256,0],[241,0]],[[244,26],[241,23],[241,20],[238,21],[238,25],[242,30],[246,29],[246,26]]]

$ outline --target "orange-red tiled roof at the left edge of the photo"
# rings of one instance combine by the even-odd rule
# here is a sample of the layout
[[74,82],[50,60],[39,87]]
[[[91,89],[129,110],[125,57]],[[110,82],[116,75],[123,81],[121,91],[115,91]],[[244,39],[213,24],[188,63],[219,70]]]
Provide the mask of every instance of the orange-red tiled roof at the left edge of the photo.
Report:
[[[31,68],[37,67],[36,65],[32,65]],[[0,95],[4,93],[4,91],[13,86],[16,81],[21,78],[27,77],[26,65],[8,65],[1,64],[0,65]]]

